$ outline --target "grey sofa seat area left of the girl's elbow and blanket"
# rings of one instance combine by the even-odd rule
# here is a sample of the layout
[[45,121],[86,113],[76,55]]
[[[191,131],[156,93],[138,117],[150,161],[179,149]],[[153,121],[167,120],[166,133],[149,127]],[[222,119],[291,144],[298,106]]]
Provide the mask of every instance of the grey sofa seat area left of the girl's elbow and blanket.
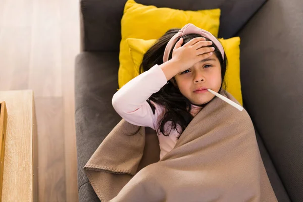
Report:
[[[118,52],[81,53],[75,65],[78,188],[88,182],[84,165],[121,120],[112,106],[118,88]],[[90,185],[89,185],[90,186]]]

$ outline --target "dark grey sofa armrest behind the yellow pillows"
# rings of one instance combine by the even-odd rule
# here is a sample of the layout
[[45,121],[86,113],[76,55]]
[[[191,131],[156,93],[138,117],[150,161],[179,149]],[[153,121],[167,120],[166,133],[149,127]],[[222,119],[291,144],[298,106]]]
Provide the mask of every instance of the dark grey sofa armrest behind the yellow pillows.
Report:
[[[119,51],[121,18],[127,0],[81,0],[82,51]],[[180,10],[221,9],[219,37],[230,38],[266,0],[137,0],[139,4]]]

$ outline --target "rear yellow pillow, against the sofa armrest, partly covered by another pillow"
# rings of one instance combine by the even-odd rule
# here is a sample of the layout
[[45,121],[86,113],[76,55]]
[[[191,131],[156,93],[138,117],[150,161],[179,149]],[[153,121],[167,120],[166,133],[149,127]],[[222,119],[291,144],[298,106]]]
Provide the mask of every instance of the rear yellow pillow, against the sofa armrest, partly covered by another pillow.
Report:
[[124,7],[121,20],[120,54],[118,81],[121,88],[135,76],[133,65],[129,60],[127,38],[155,39],[160,38],[172,28],[182,28],[188,23],[218,36],[220,24],[220,9],[201,11],[182,11],[170,8],[157,8],[137,4],[128,0]]

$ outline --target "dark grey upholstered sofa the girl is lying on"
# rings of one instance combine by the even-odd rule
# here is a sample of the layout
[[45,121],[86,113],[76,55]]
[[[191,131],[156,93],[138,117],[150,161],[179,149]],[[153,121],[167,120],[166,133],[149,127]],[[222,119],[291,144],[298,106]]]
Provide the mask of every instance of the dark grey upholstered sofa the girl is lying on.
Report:
[[[121,120],[118,88],[121,17],[126,0],[81,0],[75,64],[79,201],[99,201],[83,167]],[[303,3],[301,0],[137,0],[182,10],[221,9],[219,37],[241,37],[244,107],[279,201],[303,201]],[[102,182],[100,182],[102,183]]]

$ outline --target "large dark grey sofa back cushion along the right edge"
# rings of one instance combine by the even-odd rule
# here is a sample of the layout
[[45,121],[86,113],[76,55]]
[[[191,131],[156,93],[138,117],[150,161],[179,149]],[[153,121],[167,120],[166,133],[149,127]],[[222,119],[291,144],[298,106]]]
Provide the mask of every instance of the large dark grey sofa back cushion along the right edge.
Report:
[[239,32],[243,103],[292,201],[303,201],[302,19],[301,0],[268,1]]

